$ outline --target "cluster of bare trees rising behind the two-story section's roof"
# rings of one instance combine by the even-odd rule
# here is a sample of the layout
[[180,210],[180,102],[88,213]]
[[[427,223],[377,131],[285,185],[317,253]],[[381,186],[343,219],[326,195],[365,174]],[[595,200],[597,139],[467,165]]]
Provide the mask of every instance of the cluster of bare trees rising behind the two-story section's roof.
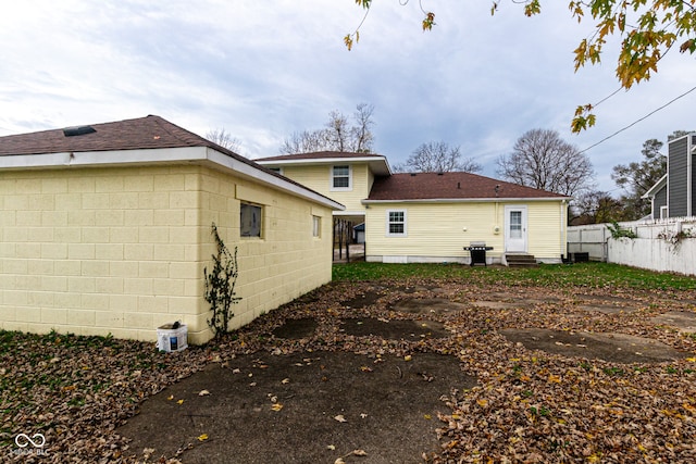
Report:
[[353,113],[355,124],[351,126],[347,116],[338,111],[328,114],[324,128],[294,133],[281,146],[281,153],[308,153],[313,151],[347,151],[353,153],[371,153],[374,136],[372,113],[374,106],[360,103]]

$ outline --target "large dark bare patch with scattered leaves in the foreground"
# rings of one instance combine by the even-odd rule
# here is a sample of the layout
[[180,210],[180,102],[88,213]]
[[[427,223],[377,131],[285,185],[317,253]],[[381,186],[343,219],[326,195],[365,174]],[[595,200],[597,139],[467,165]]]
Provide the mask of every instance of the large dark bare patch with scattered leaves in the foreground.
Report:
[[333,463],[353,450],[366,453],[355,462],[419,462],[439,449],[439,397],[474,385],[456,358],[434,353],[257,353],[169,387],[119,432],[156,456],[191,443],[192,464]]

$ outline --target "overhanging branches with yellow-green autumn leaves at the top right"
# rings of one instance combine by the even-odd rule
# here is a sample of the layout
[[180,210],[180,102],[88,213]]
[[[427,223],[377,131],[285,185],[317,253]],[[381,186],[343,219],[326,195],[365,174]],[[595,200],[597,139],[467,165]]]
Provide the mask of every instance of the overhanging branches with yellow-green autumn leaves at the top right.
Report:
[[[542,12],[540,0],[511,0],[523,4],[524,14],[533,16]],[[356,0],[368,12],[372,0]],[[408,3],[408,0],[401,4]],[[490,13],[499,8],[493,1]],[[680,52],[696,52],[696,0],[569,0],[571,16],[581,23],[592,21],[594,32],[580,41],[574,50],[575,71],[585,64],[601,62],[605,45],[612,36],[619,36],[621,46],[617,57],[617,78],[621,88],[648,80],[657,73],[660,59],[674,46]],[[423,30],[435,24],[435,14],[422,9]],[[366,13],[365,13],[366,14]],[[359,28],[358,28],[359,29]],[[359,30],[344,38],[350,50],[360,38]],[[592,104],[577,106],[572,129],[575,133],[592,127],[595,115]]]

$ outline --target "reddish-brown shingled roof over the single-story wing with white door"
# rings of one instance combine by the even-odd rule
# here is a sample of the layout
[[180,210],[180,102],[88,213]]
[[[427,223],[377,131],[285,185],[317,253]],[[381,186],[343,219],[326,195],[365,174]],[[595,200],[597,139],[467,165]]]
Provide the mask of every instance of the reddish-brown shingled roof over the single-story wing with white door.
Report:
[[407,173],[375,178],[370,197],[363,202],[570,198],[471,173]]

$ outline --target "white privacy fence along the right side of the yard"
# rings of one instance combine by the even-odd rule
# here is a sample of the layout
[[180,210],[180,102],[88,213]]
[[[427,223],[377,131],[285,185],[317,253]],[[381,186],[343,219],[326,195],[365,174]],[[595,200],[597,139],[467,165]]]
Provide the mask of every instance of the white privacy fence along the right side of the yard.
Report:
[[568,228],[568,252],[593,261],[696,275],[696,217],[620,223],[636,238],[613,238],[607,224]]

